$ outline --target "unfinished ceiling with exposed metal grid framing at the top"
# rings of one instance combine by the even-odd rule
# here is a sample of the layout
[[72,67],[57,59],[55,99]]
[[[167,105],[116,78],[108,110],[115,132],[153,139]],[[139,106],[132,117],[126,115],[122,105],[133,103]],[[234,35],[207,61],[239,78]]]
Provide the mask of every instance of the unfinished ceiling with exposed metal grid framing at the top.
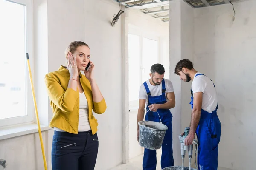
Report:
[[[169,21],[169,0],[114,0],[127,8],[138,9],[163,22]],[[230,0],[183,0],[193,8],[221,5]],[[232,0],[238,1],[238,0]]]

